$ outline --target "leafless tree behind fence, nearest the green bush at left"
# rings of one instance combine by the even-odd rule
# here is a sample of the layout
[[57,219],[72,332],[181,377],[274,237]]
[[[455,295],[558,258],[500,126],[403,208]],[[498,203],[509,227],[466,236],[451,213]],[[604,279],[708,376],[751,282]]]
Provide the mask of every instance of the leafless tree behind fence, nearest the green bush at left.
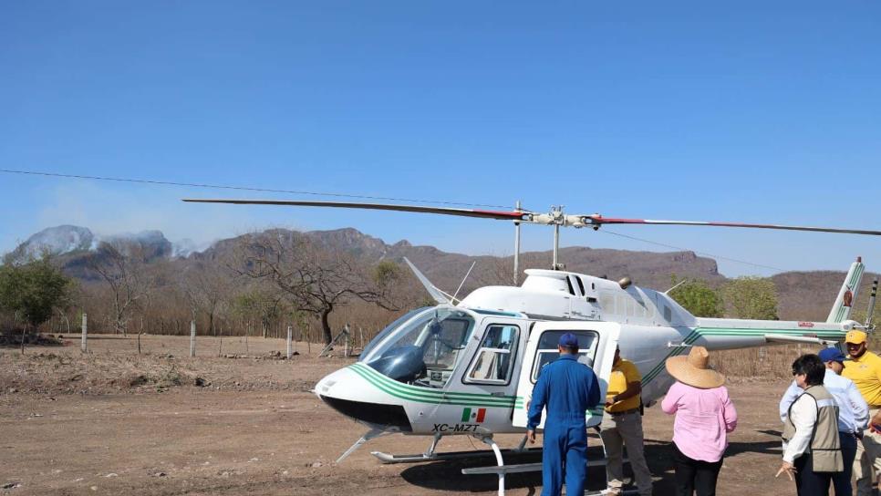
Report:
[[145,253],[137,245],[119,242],[100,243],[88,255],[88,269],[98,274],[108,286],[113,305],[110,317],[113,329],[128,336],[131,312],[150,294],[153,281],[146,268]]

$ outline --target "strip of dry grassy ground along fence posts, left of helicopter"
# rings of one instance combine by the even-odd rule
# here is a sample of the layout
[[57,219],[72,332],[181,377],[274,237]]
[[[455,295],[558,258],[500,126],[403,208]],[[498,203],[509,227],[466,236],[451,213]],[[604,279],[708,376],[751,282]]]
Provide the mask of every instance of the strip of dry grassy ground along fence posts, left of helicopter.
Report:
[[297,377],[295,366],[326,374],[352,360],[317,358],[320,347],[306,343],[298,343],[298,355],[285,360],[284,340],[261,337],[247,343],[244,337],[224,338],[223,356],[218,356],[221,339],[199,336],[194,358],[189,337],[183,336],[141,336],[140,355],[137,336],[90,337],[86,354],[79,350],[78,335],[66,336],[63,342],[65,346],[27,348],[25,355],[17,348],[0,348],[0,395],[119,394],[181,386],[307,391],[314,381]]

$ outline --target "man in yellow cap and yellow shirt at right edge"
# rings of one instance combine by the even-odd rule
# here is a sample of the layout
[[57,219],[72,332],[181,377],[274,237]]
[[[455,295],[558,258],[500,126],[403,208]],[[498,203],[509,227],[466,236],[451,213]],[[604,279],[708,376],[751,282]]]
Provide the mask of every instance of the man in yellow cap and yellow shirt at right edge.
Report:
[[[863,331],[850,331],[845,336],[847,354],[842,376],[854,381],[865,402],[869,404],[869,430],[856,444],[854,477],[857,496],[872,494],[877,474],[881,474],[881,433],[872,426],[881,426],[881,356],[868,351]],[[875,474],[872,470],[875,470]]]

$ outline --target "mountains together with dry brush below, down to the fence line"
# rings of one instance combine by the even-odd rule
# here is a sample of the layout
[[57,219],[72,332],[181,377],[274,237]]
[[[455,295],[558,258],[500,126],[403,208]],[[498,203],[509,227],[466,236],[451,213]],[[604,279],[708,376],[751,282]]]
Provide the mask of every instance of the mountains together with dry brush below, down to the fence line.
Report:
[[[37,254],[39,253],[39,255]],[[71,280],[64,298],[40,328],[77,331],[88,314],[90,332],[296,336],[326,341],[343,325],[368,338],[401,312],[424,305],[427,294],[402,264],[415,263],[441,289],[454,293],[472,262],[460,295],[488,284],[512,284],[513,258],[445,253],[406,241],[388,244],[355,229],[298,233],[272,229],[225,239],[202,252],[182,250],[157,231],[98,238],[88,229],[58,226],[36,233],[5,256],[5,266],[45,257]],[[691,252],[653,253],[569,247],[566,269],[609,279],[630,277],[661,291],[682,279],[700,286],[696,315],[743,315],[740,299],[773,294],[753,317],[824,320],[845,272],[790,272],[767,280],[729,280],[710,258]],[[546,268],[550,252],[523,253],[523,269]],[[866,274],[856,308],[864,309],[872,274]],[[758,285],[756,285],[758,284]],[[701,289],[702,288],[702,289]],[[691,290],[689,290],[691,291]],[[713,300],[704,301],[707,293]],[[680,301],[681,297],[677,296]],[[703,298],[703,299],[701,299]],[[755,302],[750,302],[753,305]],[[690,304],[686,304],[689,306]],[[3,312],[3,325],[23,325]]]

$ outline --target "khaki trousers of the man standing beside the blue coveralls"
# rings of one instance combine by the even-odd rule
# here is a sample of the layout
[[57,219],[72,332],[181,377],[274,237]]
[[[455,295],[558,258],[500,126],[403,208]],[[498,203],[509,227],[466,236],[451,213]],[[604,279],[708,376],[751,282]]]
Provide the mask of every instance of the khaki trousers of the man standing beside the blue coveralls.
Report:
[[640,496],[651,496],[651,472],[648,471],[643,448],[642,416],[638,410],[621,415],[606,413],[600,425],[600,436],[606,446],[606,481],[612,494],[624,486],[624,448],[636,479]]

